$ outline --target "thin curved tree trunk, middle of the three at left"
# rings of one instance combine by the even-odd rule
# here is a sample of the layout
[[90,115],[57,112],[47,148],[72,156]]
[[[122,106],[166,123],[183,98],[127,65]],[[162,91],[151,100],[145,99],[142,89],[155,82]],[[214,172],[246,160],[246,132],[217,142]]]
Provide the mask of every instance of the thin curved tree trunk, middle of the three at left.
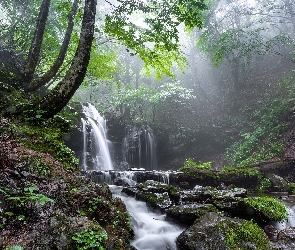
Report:
[[67,49],[68,49],[68,46],[69,46],[69,43],[71,40],[71,35],[72,35],[73,27],[74,27],[74,19],[76,16],[77,8],[78,8],[78,3],[77,3],[77,0],[75,0],[73,3],[72,10],[69,14],[68,28],[66,30],[65,37],[64,37],[63,43],[62,43],[60,51],[59,51],[59,55],[58,55],[55,63],[51,66],[51,68],[48,70],[48,72],[46,72],[42,77],[33,80],[30,84],[25,86],[24,87],[25,92],[31,92],[31,91],[37,90],[41,86],[48,83],[59,71],[61,65],[64,62],[64,59],[65,59],[65,56],[67,53]]

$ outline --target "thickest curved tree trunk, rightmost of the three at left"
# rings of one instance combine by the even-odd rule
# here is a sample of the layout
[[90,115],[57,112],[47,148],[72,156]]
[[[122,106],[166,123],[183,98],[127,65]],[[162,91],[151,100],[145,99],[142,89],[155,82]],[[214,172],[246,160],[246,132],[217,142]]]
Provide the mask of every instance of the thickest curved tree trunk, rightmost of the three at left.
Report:
[[40,102],[40,109],[46,111],[45,118],[53,117],[61,111],[84,80],[94,35],[96,3],[97,0],[85,1],[80,41],[72,64],[61,82]]

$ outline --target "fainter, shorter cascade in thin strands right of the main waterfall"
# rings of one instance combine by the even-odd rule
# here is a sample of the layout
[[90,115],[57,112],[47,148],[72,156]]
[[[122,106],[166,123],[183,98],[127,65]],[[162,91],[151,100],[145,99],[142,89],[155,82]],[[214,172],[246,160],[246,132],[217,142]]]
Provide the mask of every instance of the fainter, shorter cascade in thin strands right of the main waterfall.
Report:
[[149,126],[128,126],[122,145],[123,162],[129,168],[157,169],[156,143]]

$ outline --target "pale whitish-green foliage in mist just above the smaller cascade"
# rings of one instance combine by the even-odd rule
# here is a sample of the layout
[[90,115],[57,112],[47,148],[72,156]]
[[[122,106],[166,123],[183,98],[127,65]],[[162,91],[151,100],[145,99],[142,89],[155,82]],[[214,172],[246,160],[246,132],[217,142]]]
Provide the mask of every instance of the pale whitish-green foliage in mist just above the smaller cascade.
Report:
[[192,90],[182,87],[179,82],[166,83],[160,87],[117,85],[110,93],[108,102],[102,103],[100,109],[110,110],[112,114],[128,109],[130,119],[152,123],[159,110],[167,115],[175,107],[189,108],[186,101],[194,98]]

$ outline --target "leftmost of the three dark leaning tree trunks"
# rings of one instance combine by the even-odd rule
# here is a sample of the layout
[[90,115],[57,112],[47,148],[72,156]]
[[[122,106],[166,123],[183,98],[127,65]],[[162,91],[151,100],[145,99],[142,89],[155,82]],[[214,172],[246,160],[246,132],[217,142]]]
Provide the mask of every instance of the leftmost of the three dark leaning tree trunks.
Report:
[[27,60],[24,64],[24,67],[21,70],[23,86],[26,86],[29,82],[32,81],[40,58],[41,45],[45,32],[46,21],[49,14],[50,2],[51,0],[42,1],[42,5],[37,19],[34,38],[31,43]]

